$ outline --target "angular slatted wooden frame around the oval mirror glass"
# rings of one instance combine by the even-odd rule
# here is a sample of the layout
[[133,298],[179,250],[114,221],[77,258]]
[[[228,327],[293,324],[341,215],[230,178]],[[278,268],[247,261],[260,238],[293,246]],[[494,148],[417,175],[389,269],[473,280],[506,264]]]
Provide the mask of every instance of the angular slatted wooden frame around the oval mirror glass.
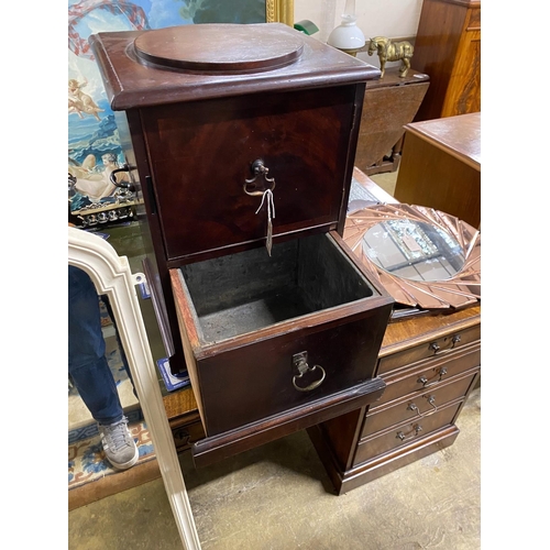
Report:
[[[464,265],[451,278],[429,282],[406,279],[384,271],[369,257],[362,242],[371,228],[391,220],[424,222],[446,231],[460,244]],[[343,239],[371,277],[384,286],[397,304],[430,310],[461,308],[481,299],[481,233],[454,216],[399,202],[377,205],[349,213]]]

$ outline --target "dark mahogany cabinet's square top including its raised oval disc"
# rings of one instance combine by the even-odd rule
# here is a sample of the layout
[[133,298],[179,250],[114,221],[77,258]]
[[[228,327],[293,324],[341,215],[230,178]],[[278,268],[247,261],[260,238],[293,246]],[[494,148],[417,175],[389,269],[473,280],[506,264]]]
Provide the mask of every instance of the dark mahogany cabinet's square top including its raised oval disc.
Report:
[[89,43],[114,111],[380,78],[376,67],[283,23],[106,32]]

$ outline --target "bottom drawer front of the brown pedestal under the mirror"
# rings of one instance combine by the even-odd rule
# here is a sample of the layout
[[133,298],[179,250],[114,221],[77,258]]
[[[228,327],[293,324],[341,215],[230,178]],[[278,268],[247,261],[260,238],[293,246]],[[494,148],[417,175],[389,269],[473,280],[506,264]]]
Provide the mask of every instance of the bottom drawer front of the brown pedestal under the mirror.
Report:
[[377,437],[365,439],[358,446],[353,465],[361,464],[381,454],[406,446],[410,441],[421,439],[428,433],[451,425],[459,413],[462,400],[453,402],[438,411],[392,428]]

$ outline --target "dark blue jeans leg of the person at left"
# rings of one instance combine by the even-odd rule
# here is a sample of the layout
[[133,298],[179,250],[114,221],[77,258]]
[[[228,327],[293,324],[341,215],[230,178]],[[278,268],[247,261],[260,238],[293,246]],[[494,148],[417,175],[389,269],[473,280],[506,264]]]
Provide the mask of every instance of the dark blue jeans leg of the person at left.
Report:
[[109,425],[124,414],[105,352],[96,287],[86,272],[69,265],[68,372],[94,419]]

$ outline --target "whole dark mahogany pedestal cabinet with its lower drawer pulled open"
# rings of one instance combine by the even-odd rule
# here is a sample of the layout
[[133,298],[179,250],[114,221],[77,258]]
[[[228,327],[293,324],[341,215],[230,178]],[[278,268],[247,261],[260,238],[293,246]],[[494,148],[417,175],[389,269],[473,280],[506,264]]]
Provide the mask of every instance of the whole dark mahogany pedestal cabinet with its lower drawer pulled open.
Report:
[[380,398],[394,300],[341,240],[378,69],[279,23],[90,43],[145,206],[170,367],[206,433],[196,465]]

